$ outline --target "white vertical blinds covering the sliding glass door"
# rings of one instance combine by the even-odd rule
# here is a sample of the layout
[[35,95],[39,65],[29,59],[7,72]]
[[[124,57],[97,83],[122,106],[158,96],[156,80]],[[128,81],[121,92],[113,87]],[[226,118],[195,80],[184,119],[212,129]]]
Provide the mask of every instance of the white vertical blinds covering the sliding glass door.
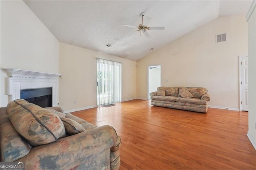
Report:
[[97,105],[122,101],[122,63],[97,58]]

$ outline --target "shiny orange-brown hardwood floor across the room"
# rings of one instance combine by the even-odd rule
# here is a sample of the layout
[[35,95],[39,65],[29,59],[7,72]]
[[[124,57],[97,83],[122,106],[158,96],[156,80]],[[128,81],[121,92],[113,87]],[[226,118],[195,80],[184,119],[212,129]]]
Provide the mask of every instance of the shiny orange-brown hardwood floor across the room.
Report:
[[209,108],[203,114],[132,100],[72,114],[116,129],[121,170],[256,169],[247,112]]

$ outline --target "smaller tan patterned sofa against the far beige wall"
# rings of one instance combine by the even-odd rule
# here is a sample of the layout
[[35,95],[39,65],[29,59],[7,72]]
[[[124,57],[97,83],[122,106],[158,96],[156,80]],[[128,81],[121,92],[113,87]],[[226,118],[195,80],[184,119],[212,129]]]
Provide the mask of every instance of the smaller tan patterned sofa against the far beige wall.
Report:
[[158,87],[151,105],[206,113],[210,95],[203,87]]

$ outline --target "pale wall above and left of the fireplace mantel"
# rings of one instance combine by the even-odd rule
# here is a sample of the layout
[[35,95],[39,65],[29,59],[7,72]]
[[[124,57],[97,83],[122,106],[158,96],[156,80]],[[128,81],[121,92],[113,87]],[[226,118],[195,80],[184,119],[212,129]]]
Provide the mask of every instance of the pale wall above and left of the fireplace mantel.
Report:
[[[59,42],[22,0],[1,3],[1,68],[58,73]],[[0,70],[0,106],[6,106],[6,73]]]

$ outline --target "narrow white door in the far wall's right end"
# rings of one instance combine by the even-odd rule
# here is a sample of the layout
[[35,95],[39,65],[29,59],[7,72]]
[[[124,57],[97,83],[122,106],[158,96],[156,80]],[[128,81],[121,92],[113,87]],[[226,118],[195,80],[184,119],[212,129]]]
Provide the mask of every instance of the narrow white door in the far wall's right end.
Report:
[[248,57],[241,59],[242,111],[248,111]]

